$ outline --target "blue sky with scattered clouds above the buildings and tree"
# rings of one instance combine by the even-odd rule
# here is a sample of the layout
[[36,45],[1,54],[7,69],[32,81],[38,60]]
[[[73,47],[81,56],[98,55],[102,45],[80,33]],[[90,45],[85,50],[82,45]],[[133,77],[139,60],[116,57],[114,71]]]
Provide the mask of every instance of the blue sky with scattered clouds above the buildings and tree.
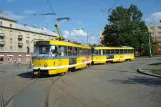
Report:
[[[117,6],[128,8],[135,4],[143,13],[147,25],[160,24],[161,0],[0,0],[3,14],[17,20],[18,24],[36,25],[57,32],[57,18],[71,20],[59,24],[63,36],[80,43],[99,44],[99,34],[108,24],[110,10]],[[51,6],[51,7],[50,7]],[[41,14],[55,13],[44,16]],[[36,14],[36,15],[33,15]]]

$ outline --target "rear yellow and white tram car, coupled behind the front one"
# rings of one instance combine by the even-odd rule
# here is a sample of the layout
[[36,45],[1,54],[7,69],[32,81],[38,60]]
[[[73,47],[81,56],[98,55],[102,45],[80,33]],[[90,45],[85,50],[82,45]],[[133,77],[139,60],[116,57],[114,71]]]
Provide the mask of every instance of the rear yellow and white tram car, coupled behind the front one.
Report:
[[132,47],[92,47],[92,63],[123,62],[134,60]]

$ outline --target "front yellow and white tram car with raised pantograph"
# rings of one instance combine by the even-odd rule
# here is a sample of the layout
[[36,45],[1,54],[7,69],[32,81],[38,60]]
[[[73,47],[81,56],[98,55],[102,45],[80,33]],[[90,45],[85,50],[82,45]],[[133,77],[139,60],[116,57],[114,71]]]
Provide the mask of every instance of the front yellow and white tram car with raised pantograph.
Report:
[[65,41],[35,41],[33,72],[54,75],[85,68],[91,64],[90,50],[89,46]]

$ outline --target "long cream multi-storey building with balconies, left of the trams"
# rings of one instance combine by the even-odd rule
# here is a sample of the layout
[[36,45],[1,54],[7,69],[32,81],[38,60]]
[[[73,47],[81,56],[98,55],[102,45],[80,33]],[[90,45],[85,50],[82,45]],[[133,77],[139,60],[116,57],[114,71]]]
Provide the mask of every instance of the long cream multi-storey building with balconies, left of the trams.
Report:
[[[17,24],[16,20],[0,11],[0,63],[30,62],[34,51],[33,41],[55,39],[56,33],[46,28]],[[30,47],[30,54],[27,47]]]

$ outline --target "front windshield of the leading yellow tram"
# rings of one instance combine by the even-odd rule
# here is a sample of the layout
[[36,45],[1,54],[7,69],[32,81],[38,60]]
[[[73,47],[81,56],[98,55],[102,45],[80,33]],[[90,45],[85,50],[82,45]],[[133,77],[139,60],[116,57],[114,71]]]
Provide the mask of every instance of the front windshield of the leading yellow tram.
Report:
[[57,47],[50,45],[36,45],[34,47],[34,56],[43,55],[43,56],[56,56]]

